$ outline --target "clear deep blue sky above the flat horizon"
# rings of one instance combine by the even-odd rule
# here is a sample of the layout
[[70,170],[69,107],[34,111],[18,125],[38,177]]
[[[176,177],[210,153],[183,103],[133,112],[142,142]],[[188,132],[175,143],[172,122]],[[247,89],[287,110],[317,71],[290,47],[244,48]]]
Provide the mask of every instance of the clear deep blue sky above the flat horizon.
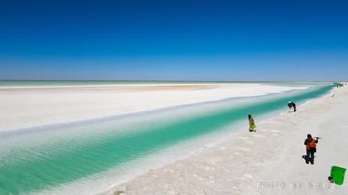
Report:
[[348,1],[1,1],[0,79],[348,80]]

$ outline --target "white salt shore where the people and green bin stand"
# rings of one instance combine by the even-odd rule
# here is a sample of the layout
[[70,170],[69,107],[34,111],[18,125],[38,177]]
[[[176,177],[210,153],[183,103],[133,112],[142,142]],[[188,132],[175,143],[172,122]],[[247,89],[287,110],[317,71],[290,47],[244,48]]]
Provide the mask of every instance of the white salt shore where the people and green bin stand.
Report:
[[[256,133],[239,130],[189,158],[167,164],[101,194],[348,194],[329,183],[331,166],[348,168],[348,88],[333,90],[257,121]],[[286,109],[286,108],[285,108]],[[247,122],[246,122],[247,123]],[[315,164],[306,164],[306,135],[319,139]]]

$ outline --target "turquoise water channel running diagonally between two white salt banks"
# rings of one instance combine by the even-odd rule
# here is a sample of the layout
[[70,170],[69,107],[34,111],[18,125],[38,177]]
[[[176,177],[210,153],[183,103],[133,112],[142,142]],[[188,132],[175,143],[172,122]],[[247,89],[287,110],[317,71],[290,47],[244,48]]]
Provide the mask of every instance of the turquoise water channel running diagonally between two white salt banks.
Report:
[[[95,122],[73,126],[0,134],[0,194],[40,192],[102,171],[121,167],[182,140],[212,133],[225,126],[286,107],[287,101],[303,102],[321,96],[333,85],[272,95],[235,105],[235,101],[210,103],[207,112],[186,112],[171,119],[161,116],[120,122]],[[230,105],[230,106],[228,106]],[[204,105],[196,105],[197,108]],[[219,109],[214,109],[214,106]],[[180,108],[177,108],[180,110]],[[183,108],[184,109],[184,108]],[[204,109],[203,109],[204,110]],[[168,117],[166,116],[168,113]],[[158,114],[151,114],[158,115]],[[185,117],[187,116],[187,117]],[[139,118],[139,120],[137,120]],[[63,132],[63,133],[62,133]]]

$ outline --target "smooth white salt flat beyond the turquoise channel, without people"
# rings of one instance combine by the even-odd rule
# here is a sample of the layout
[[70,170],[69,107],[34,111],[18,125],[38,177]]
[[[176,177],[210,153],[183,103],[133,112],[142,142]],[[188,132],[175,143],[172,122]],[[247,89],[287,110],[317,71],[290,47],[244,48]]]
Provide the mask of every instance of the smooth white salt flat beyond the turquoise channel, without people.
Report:
[[0,131],[301,89],[257,83],[0,87]]

